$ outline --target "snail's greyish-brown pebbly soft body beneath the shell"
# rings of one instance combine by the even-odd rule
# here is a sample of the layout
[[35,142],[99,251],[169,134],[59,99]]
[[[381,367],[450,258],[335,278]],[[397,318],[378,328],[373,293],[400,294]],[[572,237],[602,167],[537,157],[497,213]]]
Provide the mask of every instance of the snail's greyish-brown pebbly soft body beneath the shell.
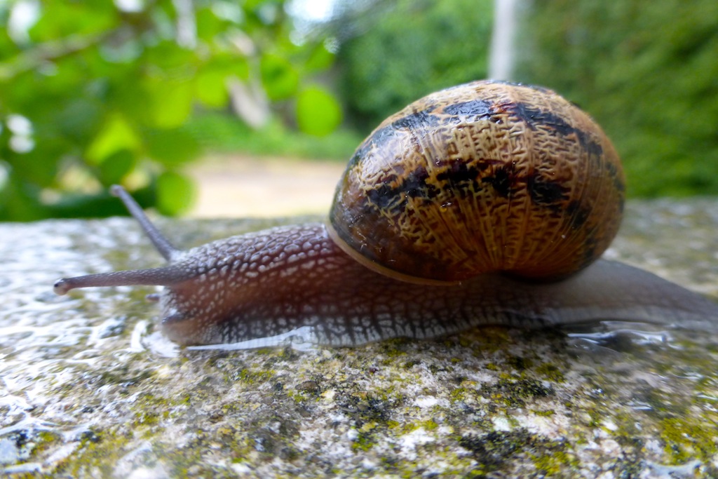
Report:
[[[162,330],[183,345],[236,343],[309,328],[314,343],[433,338],[476,325],[551,327],[600,320],[716,330],[718,305],[651,273],[599,260],[553,283],[485,274],[437,286],[365,268],[321,223],[174,251],[158,269],[62,279],[76,287],[162,284]],[[258,343],[261,344],[261,343]]]

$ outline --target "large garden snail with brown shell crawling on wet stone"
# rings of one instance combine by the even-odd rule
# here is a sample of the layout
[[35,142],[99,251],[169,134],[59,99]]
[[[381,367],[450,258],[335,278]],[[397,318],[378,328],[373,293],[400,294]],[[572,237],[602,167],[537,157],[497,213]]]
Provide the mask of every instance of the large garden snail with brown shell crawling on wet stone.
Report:
[[716,330],[718,304],[599,259],[624,190],[614,147],[577,106],[546,88],[477,81],[383,121],[350,159],[327,223],[180,251],[112,187],[169,264],[60,279],[55,292],[164,286],[162,329],[183,345],[300,329],[358,345],[601,320]]

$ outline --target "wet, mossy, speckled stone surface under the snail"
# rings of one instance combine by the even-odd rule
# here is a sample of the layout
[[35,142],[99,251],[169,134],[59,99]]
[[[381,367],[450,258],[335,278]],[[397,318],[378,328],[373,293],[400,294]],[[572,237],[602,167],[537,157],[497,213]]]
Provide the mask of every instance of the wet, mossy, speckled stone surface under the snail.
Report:
[[[296,221],[296,220],[289,220]],[[271,224],[159,220],[177,245]],[[718,298],[718,200],[629,203],[607,256]],[[716,477],[718,335],[482,328],[359,348],[180,349],[129,218],[0,224],[0,471],[90,478]],[[718,321],[718,318],[717,318]]]

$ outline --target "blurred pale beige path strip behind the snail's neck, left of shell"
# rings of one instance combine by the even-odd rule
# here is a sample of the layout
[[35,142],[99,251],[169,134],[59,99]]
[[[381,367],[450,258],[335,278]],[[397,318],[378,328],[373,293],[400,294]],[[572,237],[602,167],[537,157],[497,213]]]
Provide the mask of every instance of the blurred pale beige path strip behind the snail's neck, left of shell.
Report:
[[199,187],[190,216],[244,218],[327,214],[342,162],[311,162],[242,154],[198,162],[189,174]]

